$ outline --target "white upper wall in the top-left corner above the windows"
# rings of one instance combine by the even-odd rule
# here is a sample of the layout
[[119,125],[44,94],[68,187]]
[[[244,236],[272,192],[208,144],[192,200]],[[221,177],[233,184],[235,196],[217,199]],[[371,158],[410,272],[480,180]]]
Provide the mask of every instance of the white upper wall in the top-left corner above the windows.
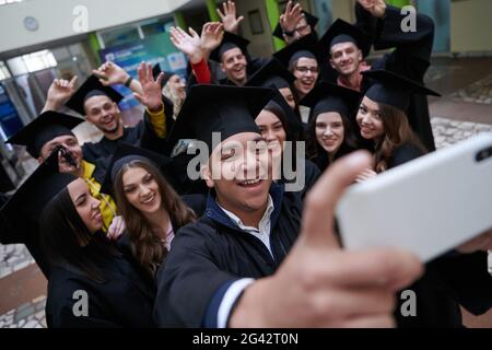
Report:
[[[87,32],[172,13],[190,0],[34,0],[0,7],[0,52],[61,39],[83,33],[74,31],[85,7]],[[33,16],[38,30],[30,32],[24,19]]]

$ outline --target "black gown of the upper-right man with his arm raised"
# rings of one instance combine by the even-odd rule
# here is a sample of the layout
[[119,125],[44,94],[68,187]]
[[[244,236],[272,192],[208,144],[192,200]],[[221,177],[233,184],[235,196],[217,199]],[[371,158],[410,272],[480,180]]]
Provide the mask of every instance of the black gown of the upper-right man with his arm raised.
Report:
[[[375,21],[361,10],[358,4],[358,25],[373,36],[374,48],[389,49],[396,47],[391,54],[372,62],[372,69],[386,69],[423,83],[423,78],[430,66],[432,47],[434,42],[434,23],[422,14],[417,14],[417,32],[403,33],[401,23],[405,15],[400,10],[388,5],[384,20]],[[366,91],[371,82],[363,81],[362,91]],[[434,137],[432,133],[431,118],[429,114],[427,97],[413,95],[409,109],[407,110],[410,126],[420,137],[427,151],[435,151]]]

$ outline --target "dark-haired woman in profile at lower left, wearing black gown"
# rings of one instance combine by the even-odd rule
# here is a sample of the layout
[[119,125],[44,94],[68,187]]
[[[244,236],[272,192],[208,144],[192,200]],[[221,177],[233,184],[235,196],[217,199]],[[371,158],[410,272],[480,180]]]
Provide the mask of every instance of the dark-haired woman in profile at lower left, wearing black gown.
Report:
[[36,188],[37,198],[49,199],[39,217],[51,264],[48,326],[153,327],[155,287],[101,232],[99,201],[85,182],[56,174],[40,179]]

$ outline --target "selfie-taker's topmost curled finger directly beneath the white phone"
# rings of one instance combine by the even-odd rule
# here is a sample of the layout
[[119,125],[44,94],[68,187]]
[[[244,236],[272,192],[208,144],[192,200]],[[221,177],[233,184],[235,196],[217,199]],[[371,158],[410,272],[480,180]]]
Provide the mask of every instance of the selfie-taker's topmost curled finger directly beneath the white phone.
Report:
[[413,254],[399,249],[333,252],[314,279],[339,288],[384,288],[396,292],[410,285],[423,272]]

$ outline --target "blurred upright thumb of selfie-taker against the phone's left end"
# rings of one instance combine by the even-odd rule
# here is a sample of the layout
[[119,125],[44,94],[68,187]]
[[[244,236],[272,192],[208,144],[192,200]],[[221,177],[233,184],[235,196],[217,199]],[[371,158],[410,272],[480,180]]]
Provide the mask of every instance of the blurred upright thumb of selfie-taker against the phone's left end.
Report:
[[337,203],[371,160],[367,151],[358,151],[335,162],[321,175],[304,201],[301,242],[313,247],[339,246],[333,234]]

